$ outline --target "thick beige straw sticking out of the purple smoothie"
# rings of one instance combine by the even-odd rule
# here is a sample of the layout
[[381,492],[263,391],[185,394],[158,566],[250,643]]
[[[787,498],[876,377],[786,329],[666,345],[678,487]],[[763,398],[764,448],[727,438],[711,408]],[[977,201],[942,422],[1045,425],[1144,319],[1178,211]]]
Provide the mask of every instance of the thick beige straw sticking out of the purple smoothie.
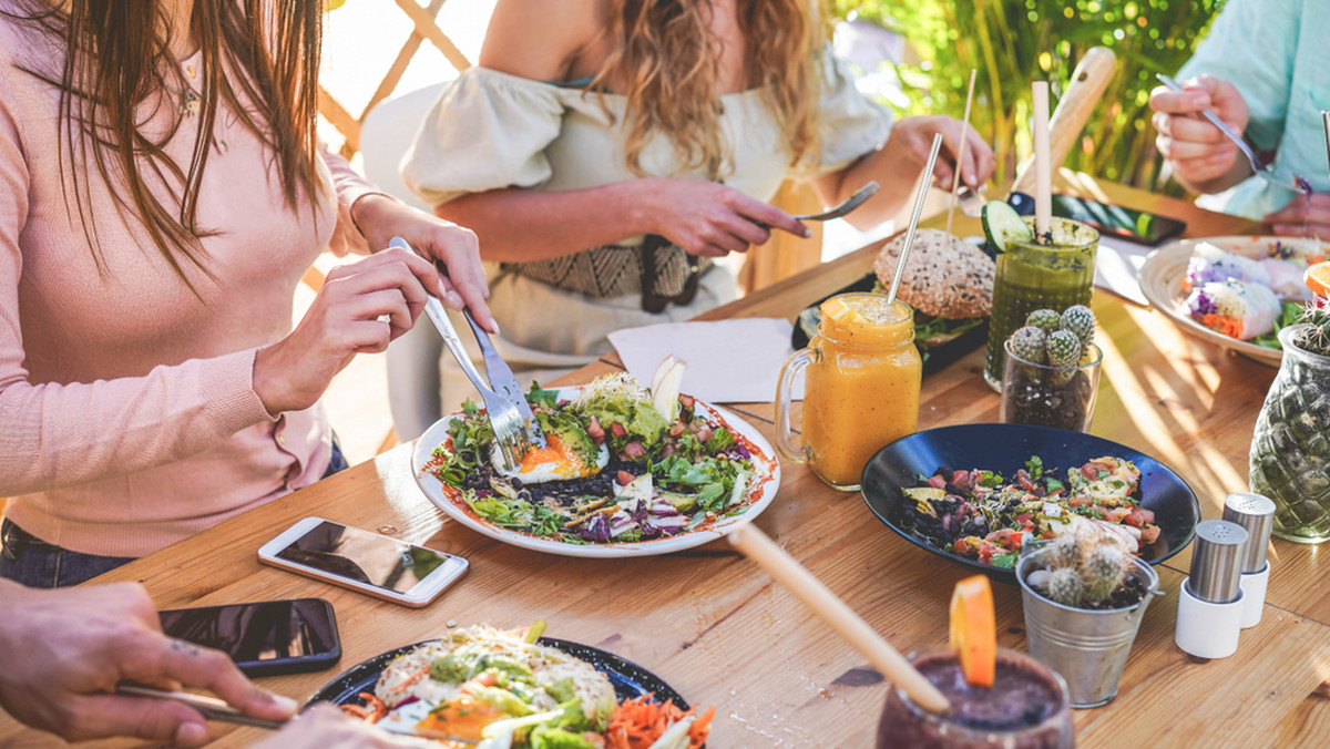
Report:
[[728,537],[745,556],[794,593],[809,611],[845,637],[859,655],[868,659],[872,668],[899,686],[916,705],[932,713],[951,709],[947,697],[899,651],[753,523],[741,524],[730,531]]

